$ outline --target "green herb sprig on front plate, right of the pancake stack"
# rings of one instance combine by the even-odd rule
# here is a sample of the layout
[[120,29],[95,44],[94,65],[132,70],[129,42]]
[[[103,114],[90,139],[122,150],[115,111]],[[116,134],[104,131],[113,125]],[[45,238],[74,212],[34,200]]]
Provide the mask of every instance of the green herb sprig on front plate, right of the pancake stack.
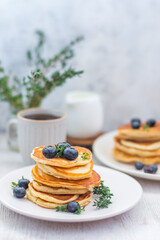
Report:
[[101,181],[98,187],[93,188],[93,194],[99,195],[99,198],[93,202],[93,206],[97,208],[108,208],[109,204],[112,203],[113,194],[110,192],[109,187],[104,186],[104,181]]

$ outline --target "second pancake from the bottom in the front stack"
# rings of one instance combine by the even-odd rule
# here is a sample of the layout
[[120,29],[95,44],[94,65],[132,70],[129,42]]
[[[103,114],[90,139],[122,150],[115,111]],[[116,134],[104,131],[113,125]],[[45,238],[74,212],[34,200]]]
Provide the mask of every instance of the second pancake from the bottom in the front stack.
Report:
[[29,191],[34,197],[38,197],[47,202],[53,202],[58,204],[65,204],[72,201],[76,201],[76,199],[79,197],[78,194],[56,195],[56,194],[39,192],[36,189],[34,189],[32,182],[29,183]]

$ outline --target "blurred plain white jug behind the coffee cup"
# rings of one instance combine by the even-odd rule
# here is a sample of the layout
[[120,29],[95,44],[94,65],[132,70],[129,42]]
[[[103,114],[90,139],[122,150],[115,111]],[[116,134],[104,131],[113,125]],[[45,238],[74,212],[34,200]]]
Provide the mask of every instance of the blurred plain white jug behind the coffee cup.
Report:
[[103,127],[100,96],[93,92],[74,91],[66,95],[67,134],[72,138],[91,138]]

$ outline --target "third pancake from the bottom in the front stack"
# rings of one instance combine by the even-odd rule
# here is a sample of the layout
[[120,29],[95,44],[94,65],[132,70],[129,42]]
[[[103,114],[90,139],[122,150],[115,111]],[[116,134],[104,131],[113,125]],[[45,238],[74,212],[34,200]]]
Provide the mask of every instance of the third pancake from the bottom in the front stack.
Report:
[[82,189],[54,188],[54,187],[48,187],[35,180],[32,183],[35,190],[39,192],[50,193],[50,194],[84,194],[88,192],[87,188],[82,188]]

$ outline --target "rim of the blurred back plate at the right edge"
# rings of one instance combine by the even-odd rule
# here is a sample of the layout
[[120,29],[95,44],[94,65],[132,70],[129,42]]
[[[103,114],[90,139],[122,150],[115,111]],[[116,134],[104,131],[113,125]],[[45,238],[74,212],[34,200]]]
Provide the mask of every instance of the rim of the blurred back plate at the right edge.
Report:
[[[129,174],[133,177],[137,177],[137,178],[141,178],[141,179],[147,179],[147,180],[152,180],[152,181],[160,181],[160,175],[152,175],[152,174],[149,174],[149,173],[143,173],[143,172],[140,172],[138,170],[130,170],[130,169],[125,169],[125,166],[122,166],[122,167],[119,167],[119,166],[115,166],[114,164],[110,163],[109,161],[104,161],[103,159],[101,159],[99,157],[99,154],[97,153],[97,143],[105,138],[105,137],[111,137],[112,136],[112,139],[113,139],[113,136],[116,135],[117,133],[117,130],[113,130],[113,131],[110,131],[110,132],[107,132],[107,133],[104,133],[103,135],[99,136],[93,143],[93,146],[92,146],[92,150],[93,150],[93,154],[96,156],[96,158],[104,165],[104,166],[107,166],[107,167],[110,167],[112,169],[115,169],[116,171],[120,171],[122,173],[125,173],[125,174]],[[111,135],[111,136],[109,136]],[[120,163],[120,162],[119,162]],[[122,163],[123,164],[123,163]]]

